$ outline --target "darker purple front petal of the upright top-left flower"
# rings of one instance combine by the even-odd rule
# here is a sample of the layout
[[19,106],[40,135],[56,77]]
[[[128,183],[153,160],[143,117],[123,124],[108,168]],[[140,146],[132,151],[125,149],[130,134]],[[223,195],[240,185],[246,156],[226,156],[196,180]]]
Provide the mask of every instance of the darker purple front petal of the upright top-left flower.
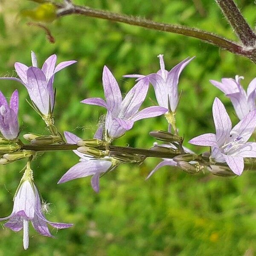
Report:
[[41,69],[29,67],[27,70],[28,92],[32,101],[37,105],[42,114],[49,113],[49,91],[47,80]]

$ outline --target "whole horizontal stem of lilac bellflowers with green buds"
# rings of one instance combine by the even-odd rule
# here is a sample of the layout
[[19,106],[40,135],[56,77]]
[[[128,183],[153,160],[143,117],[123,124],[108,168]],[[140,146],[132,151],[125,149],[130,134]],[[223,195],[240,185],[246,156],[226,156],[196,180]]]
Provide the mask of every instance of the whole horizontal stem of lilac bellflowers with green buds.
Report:
[[[175,113],[180,100],[179,77],[193,58],[186,58],[170,71],[165,69],[163,55],[158,55],[158,58],[160,70],[157,73],[147,76],[125,76],[137,78],[137,83],[128,91],[124,99],[111,71],[106,66],[103,68],[102,84],[105,99],[97,97],[81,101],[83,104],[97,105],[106,109],[104,120],[99,124],[94,138],[87,140],[68,131],[65,131],[62,136],[55,127],[53,119],[55,73],[76,61],[64,61],[55,66],[56,55],[51,55],[40,69],[35,53],[32,52],[32,67],[19,62],[15,63],[19,78],[0,78],[18,81],[26,87],[31,99],[29,104],[42,117],[49,131],[47,136],[25,134],[23,138],[29,143],[24,144],[19,138],[18,92],[17,90],[13,92],[8,104],[6,97],[0,91],[0,132],[2,135],[0,137],[0,164],[8,164],[24,158],[27,160],[24,175],[14,197],[13,211],[8,217],[0,218],[0,221],[8,219],[4,226],[14,231],[23,229],[24,249],[27,249],[29,245],[29,221],[39,234],[50,237],[52,235],[47,223],[56,229],[72,226],[72,224],[50,222],[44,216],[41,198],[30,168],[30,163],[35,159],[37,151],[73,150],[80,157],[79,163],[64,173],[58,184],[92,176],[91,186],[95,192],[99,192],[99,178],[102,175],[124,163],[142,163],[146,157],[163,158],[147,178],[162,166],[173,166],[191,174],[208,169],[215,175],[241,175],[244,171],[244,158],[256,157],[256,142],[248,141],[256,128],[256,79],[250,82],[247,93],[240,84],[242,77],[239,76],[236,76],[236,79],[224,78],[221,82],[210,81],[230,98],[240,122],[232,128],[230,117],[223,103],[215,98],[212,105],[215,134],[202,134],[189,140],[190,144],[207,146],[210,150],[203,154],[196,154],[184,147],[184,137],[179,136],[179,130],[175,124]],[[154,87],[158,105],[141,109],[150,84]],[[150,150],[113,145],[113,141],[130,130],[134,122],[161,115],[164,115],[168,121],[168,131],[151,131],[150,135],[162,141],[163,144],[154,143]]]

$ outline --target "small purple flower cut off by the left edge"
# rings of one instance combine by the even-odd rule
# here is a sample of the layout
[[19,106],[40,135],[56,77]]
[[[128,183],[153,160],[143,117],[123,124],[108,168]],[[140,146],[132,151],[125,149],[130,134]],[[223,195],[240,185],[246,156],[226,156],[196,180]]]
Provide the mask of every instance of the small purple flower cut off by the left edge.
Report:
[[0,131],[7,140],[17,138],[19,133],[18,123],[19,95],[15,90],[10,99],[10,105],[6,97],[0,91]]

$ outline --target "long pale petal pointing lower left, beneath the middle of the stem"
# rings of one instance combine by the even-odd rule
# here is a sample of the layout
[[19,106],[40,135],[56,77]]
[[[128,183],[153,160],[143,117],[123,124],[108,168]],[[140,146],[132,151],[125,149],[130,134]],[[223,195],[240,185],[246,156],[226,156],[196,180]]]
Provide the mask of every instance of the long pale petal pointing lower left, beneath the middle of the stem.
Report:
[[107,160],[82,161],[71,167],[58,181],[58,184],[81,177],[94,175],[97,172],[106,172],[111,162]]

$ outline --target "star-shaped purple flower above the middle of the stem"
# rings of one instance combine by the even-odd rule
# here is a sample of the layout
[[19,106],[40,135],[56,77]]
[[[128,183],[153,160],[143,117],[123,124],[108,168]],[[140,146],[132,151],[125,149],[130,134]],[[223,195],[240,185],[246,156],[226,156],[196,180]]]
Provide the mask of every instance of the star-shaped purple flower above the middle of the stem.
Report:
[[119,137],[130,130],[134,122],[140,119],[160,116],[168,109],[152,106],[139,111],[148,92],[148,79],[141,79],[127,93],[122,100],[121,91],[116,79],[108,69],[104,67],[102,75],[105,99],[89,98],[81,101],[84,104],[97,105],[108,110],[105,120],[105,131],[111,138]]

